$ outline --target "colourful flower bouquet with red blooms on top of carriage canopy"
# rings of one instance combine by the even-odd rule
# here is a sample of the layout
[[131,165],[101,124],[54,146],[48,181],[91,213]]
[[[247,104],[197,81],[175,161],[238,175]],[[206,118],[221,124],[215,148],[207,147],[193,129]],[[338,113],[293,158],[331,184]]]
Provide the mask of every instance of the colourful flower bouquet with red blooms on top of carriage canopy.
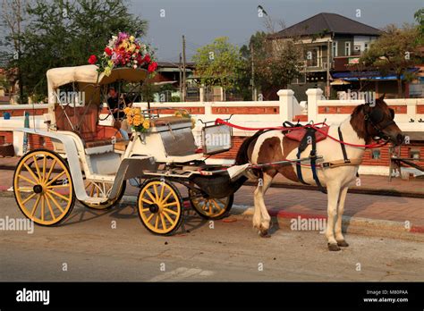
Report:
[[90,55],[89,63],[98,65],[98,72],[109,76],[117,67],[144,68],[152,73],[157,70],[153,60],[153,51],[148,45],[142,44],[134,36],[119,32],[112,36],[102,55]]

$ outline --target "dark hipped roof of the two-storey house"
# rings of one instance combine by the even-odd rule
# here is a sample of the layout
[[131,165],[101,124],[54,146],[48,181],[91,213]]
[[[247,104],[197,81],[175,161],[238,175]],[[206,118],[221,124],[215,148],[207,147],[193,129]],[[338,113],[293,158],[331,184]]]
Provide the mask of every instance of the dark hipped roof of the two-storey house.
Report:
[[310,36],[322,33],[323,30],[334,34],[352,34],[363,36],[379,36],[382,31],[353,21],[336,13],[318,13],[307,20],[298,22],[293,26],[276,33],[275,38],[287,38],[293,36]]

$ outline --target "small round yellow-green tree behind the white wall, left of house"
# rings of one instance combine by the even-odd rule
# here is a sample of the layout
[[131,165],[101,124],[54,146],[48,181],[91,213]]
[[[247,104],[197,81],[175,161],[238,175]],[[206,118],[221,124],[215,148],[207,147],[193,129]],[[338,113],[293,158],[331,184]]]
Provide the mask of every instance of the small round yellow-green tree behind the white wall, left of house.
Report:
[[242,69],[242,56],[227,37],[216,38],[213,43],[200,47],[192,59],[201,84],[226,89],[236,86],[237,74]]

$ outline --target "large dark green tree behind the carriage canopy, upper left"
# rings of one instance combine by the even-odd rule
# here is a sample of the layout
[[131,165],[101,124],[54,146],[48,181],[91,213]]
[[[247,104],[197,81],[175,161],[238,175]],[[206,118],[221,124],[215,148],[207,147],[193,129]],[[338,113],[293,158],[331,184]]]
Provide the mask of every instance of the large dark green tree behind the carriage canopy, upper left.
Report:
[[36,0],[27,13],[20,62],[31,96],[47,95],[48,69],[86,64],[119,30],[140,38],[147,29],[147,22],[133,16],[123,0]]

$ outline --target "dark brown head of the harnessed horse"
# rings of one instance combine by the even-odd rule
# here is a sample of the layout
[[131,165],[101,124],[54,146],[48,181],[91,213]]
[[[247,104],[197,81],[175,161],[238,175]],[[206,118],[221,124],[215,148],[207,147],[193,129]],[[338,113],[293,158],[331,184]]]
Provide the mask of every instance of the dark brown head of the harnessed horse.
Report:
[[376,104],[364,104],[355,108],[351,124],[358,136],[367,143],[371,140],[385,139],[401,145],[403,133],[394,122],[394,110],[384,101],[384,95],[376,99]]

